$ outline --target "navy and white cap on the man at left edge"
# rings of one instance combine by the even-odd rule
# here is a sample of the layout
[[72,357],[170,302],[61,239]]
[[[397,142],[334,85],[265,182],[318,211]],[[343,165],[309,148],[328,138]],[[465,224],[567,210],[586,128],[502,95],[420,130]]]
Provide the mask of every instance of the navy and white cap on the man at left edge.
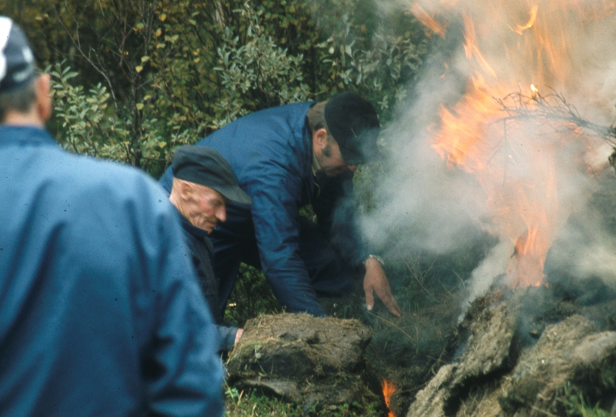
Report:
[[0,16],[0,93],[14,90],[36,76],[34,54],[22,28]]

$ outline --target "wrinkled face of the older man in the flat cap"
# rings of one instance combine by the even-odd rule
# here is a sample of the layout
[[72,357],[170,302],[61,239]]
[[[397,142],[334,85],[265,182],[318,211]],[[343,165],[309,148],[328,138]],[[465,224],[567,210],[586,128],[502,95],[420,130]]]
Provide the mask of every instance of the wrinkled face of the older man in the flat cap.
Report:
[[191,191],[184,201],[182,214],[193,226],[211,233],[219,221],[227,220],[227,199],[215,189],[190,183]]

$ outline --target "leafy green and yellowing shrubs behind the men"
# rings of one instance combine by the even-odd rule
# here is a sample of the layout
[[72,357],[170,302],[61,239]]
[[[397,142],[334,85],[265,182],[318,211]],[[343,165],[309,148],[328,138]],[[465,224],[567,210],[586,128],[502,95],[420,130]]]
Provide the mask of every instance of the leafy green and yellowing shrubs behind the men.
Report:
[[[36,27],[79,30],[83,55],[71,58],[78,71],[64,64],[52,71],[60,139],[78,153],[155,176],[174,147],[271,106],[354,90],[386,122],[428,47],[411,18],[400,17],[403,32],[386,29],[371,0],[68,0],[65,6],[39,20],[43,9],[28,12]],[[116,21],[121,16],[128,21]],[[73,57],[70,48],[77,46],[54,55]]]

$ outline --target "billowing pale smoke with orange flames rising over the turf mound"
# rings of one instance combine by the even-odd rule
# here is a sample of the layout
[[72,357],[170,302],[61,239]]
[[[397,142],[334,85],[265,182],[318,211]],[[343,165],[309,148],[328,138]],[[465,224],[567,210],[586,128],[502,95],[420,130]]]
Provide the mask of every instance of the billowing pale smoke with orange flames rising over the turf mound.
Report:
[[[384,15],[412,13],[435,40],[413,97],[384,129],[391,172],[376,186],[378,207],[363,217],[368,239],[393,256],[450,253],[484,234],[496,237],[472,272],[471,297],[503,274],[514,287],[541,284],[553,244],[554,268],[616,283],[616,238],[587,207],[612,148],[556,114],[569,108],[595,125],[614,122],[614,7],[590,0],[378,4]],[[542,101],[547,115],[533,117]],[[573,213],[586,217],[572,224]]]

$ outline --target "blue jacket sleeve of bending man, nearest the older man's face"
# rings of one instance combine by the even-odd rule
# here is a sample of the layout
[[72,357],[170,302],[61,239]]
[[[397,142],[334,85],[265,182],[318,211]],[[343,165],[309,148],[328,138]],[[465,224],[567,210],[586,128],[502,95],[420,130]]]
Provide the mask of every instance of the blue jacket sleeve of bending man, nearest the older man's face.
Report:
[[325,316],[299,256],[301,177],[277,162],[258,165],[247,184],[261,266],[272,292],[288,312]]

